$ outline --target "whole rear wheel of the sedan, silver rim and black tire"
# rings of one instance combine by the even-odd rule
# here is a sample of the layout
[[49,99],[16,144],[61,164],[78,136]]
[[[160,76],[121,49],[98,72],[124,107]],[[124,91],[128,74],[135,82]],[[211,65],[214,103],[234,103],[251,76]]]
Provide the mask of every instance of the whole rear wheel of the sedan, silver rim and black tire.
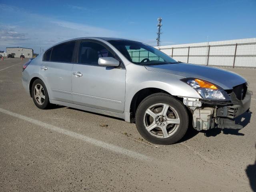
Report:
[[48,92],[46,90],[46,86],[44,85],[42,80],[35,80],[32,84],[31,89],[34,104],[40,109],[48,108],[50,106],[50,101],[48,97]]

